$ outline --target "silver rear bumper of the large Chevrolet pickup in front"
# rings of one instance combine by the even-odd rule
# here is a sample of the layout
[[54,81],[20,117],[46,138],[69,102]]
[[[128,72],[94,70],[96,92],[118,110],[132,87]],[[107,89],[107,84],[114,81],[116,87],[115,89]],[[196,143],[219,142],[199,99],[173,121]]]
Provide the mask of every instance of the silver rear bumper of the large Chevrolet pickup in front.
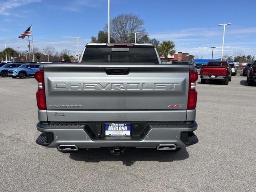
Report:
[[37,130],[42,134],[36,140],[37,144],[49,148],[57,148],[62,144],[74,144],[78,148],[100,147],[136,147],[156,148],[160,144],[175,144],[177,147],[187,147],[198,142],[193,133],[197,129],[195,121],[190,123],[154,123],[143,138],[134,140],[132,137],[99,137],[95,138],[86,130],[86,124],[42,124],[38,122]]

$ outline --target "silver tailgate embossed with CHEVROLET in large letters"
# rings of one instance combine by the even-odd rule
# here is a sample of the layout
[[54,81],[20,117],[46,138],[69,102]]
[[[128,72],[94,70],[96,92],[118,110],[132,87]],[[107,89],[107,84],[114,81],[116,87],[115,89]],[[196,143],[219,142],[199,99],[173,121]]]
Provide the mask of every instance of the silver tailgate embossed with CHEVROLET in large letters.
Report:
[[186,64],[44,64],[48,121],[186,121],[189,70]]

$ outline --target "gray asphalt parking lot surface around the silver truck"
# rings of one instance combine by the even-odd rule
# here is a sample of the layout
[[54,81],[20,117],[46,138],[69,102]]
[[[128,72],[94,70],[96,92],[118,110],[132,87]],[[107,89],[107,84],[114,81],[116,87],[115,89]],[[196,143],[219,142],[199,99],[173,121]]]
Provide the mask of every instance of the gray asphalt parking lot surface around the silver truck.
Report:
[[0,78],[0,191],[255,191],[256,86],[237,75],[196,89],[194,146],[63,154],[35,143],[36,80]]

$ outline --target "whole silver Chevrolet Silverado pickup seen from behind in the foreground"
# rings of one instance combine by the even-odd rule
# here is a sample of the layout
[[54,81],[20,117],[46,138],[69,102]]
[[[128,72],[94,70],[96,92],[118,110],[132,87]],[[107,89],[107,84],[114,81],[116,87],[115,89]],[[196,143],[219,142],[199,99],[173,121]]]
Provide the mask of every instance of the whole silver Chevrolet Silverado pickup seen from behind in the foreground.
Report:
[[178,151],[198,142],[190,62],[162,64],[152,44],[88,43],[78,64],[41,64],[36,143],[62,152]]

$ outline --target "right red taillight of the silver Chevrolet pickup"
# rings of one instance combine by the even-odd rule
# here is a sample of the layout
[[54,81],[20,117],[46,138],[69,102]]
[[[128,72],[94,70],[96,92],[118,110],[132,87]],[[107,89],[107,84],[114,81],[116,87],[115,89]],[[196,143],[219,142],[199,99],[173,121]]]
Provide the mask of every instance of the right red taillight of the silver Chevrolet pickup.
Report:
[[198,79],[198,72],[189,71],[189,88],[188,88],[188,110],[196,108],[197,92],[196,80]]

